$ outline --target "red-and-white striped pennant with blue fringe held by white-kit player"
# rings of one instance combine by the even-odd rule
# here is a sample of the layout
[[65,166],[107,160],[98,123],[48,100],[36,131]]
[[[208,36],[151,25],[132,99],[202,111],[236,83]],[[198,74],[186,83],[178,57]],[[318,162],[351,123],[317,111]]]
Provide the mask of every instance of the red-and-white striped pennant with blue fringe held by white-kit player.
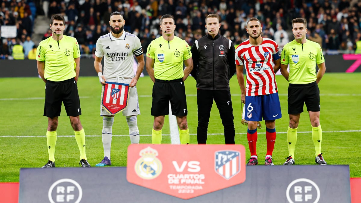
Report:
[[122,112],[129,100],[129,84],[106,82],[103,87],[101,104],[113,115]]

